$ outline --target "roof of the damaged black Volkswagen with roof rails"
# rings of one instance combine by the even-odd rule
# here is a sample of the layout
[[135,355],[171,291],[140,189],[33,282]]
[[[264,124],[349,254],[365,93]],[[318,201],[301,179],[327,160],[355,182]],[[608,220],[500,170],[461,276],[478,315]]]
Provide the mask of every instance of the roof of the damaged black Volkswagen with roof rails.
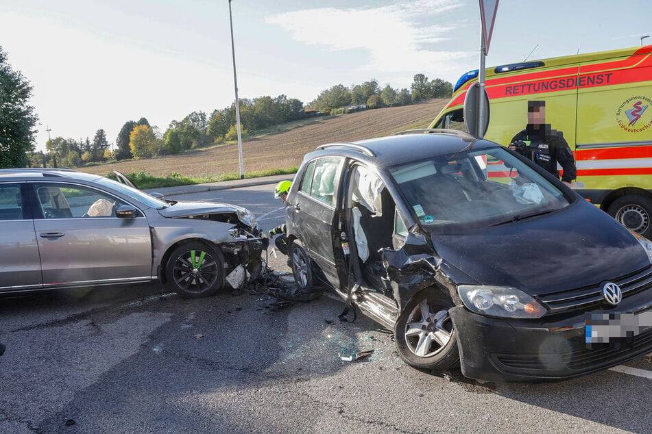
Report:
[[419,161],[437,155],[447,155],[470,149],[500,146],[479,139],[463,131],[443,129],[416,129],[356,142],[329,143],[306,155],[313,159],[326,155],[342,155],[361,159],[378,167],[394,166]]

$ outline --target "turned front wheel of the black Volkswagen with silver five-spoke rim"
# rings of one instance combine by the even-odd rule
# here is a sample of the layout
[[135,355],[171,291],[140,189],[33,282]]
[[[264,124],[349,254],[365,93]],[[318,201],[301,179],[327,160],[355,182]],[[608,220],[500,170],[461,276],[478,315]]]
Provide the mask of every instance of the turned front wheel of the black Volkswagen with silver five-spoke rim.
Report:
[[405,363],[431,370],[459,366],[457,329],[448,314],[452,305],[438,290],[423,290],[405,305],[394,326],[398,354]]

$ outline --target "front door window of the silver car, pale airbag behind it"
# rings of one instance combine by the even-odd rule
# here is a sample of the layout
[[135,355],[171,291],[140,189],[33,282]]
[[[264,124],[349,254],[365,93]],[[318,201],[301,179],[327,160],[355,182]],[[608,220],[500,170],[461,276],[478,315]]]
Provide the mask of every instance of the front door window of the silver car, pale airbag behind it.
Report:
[[66,184],[35,184],[45,218],[115,217],[124,202],[104,192]]

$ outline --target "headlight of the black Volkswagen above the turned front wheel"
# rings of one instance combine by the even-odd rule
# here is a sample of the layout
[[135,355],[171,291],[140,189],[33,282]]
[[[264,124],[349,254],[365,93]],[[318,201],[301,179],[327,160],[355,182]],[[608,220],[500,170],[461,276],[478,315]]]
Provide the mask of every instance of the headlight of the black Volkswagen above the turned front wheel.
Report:
[[508,286],[459,285],[464,305],[476,314],[505,318],[541,318],[546,308],[532,296]]

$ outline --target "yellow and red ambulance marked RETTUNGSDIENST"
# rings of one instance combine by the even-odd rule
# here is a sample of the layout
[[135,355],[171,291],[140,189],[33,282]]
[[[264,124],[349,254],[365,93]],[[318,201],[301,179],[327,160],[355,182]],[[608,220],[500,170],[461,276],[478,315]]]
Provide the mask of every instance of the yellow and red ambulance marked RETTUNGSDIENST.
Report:
[[[478,71],[460,77],[430,128],[463,129]],[[652,238],[652,45],[487,68],[485,138],[503,145],[525,128],[528,101],[575,155],[574,188],[629,229]]]

